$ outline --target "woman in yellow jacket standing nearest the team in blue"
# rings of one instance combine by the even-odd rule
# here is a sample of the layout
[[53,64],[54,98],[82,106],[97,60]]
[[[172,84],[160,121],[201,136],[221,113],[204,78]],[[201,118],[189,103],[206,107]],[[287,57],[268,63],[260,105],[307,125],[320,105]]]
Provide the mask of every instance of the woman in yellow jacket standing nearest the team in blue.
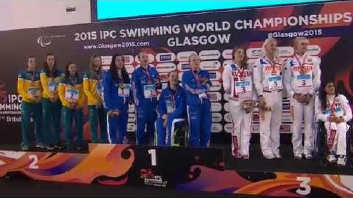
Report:
[[[107,143],[107,111],[104,108],[102,58],[92,56],[89,72],[83,76],[83,90],[88,98],[89,123],[93,143]],[[100,140],[98,140],[98,120]]]

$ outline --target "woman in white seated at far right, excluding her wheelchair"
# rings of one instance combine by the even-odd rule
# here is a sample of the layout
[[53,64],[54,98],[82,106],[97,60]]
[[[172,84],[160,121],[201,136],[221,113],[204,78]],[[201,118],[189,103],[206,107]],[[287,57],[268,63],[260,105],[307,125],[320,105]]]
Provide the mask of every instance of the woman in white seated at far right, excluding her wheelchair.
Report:
[[[336,92],[333,80],[321,84],[315,99],[315,119],[321,120],[327,130],[328,161],[336,162],[337,166],[345,166],[347,157],[347,122],[352,119],[352,110],[344,95]],[[338,160],[336,158],[338,156]]]

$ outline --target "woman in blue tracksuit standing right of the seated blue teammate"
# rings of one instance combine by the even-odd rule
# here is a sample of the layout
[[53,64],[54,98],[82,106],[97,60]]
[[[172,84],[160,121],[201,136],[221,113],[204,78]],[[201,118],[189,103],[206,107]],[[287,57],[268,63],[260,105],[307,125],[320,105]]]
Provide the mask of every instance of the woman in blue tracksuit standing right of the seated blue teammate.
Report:
[[183,74],[189,119],[190,146],[208,147],[211,138],[211,101],[207,94],[211,81],[208,71],[200,69],[200,57],[189,58],[191,70]]

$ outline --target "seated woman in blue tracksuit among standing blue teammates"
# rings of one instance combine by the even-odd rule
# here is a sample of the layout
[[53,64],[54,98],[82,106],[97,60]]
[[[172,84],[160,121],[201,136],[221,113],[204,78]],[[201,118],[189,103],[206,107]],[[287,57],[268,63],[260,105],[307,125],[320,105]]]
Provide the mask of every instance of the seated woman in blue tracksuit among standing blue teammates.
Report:
[[157,146],[171,146],[174,143],[174,125],[185,119],[185,92],[179,86],[177,72],[170,72],[168,86],[162,90],[158,101]]

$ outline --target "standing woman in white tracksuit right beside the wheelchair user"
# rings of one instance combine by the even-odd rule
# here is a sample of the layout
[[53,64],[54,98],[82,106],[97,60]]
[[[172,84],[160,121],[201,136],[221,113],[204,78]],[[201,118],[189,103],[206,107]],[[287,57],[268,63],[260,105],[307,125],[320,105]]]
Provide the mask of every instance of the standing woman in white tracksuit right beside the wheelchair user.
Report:
[[[293,117],[292,144],[295,159],[312,159],[314,150],[314,96],[320,86],[320,65],[315,57],[306,53],[308,39],[294,39],[295,54],[288,58],[284,82],[291,100]],[[304,115],[304,149],[301,126]]]

